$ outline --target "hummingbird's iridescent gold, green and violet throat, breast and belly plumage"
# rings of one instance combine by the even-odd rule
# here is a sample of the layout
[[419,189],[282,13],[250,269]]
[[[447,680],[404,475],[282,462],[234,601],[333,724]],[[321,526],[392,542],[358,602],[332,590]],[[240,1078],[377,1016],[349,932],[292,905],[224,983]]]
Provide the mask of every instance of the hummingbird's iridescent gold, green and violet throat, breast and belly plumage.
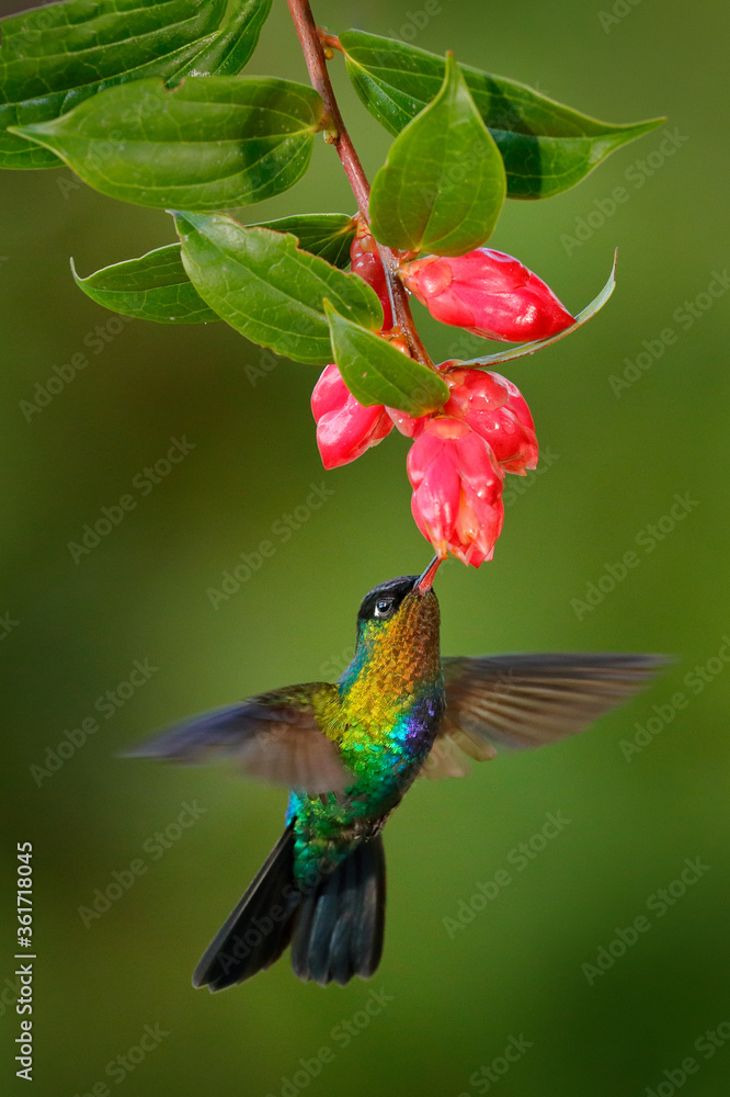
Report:
[[297,878],[339,863],[381,829],[418,776],[443,715],[436,596],[415,591],[412,576],[376,589],[384,606],[397,599],[397,612],[358,620],[353,661],[315,709],[354,780],[343,795],[292,792],[287,822],[295,821]]

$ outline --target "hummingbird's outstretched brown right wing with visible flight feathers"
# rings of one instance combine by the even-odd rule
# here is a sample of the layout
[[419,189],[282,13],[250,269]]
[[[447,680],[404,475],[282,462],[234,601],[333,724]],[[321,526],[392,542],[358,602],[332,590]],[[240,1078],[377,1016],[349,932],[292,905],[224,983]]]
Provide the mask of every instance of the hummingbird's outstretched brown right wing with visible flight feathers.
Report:
[[500,750],[557,743],[638,693],[660,655],[497,655],[442,659],[446,711],[421,772],[465,777]]

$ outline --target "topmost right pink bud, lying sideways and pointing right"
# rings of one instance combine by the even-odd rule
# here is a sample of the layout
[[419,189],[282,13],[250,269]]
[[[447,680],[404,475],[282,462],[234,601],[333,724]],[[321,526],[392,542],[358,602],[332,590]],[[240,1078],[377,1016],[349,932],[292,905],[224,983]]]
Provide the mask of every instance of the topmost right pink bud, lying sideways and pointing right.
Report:
[[454,259],[417,259],[403,263],[399,276],[442,324],[486,339],[547,339],[574,323],[537,274],[490,248]]

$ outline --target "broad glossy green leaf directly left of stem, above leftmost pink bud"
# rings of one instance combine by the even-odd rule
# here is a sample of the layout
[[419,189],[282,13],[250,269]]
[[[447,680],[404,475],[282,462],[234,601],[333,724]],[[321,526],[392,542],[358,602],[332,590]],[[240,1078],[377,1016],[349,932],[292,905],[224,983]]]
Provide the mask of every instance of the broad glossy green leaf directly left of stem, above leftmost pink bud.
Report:
[[332,361],[322,301],[379,328],[377,295],[357,274],[300,251],[296,237],[244,227],[221,214],[176,214],[182,258],[201,297],[247,339],[297,362]]

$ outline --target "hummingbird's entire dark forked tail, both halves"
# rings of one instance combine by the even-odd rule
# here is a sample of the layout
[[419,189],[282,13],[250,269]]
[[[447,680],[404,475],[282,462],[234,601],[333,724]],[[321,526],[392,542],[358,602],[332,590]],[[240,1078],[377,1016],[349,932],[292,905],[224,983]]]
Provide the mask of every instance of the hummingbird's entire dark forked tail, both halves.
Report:
[[271,966],[292,941],[292,966],[322,985],[367,979],[383,954],[385,853],[363,841],[316,883],[294,877],[294,824],[284,830],[246,894],[205,950],[193,986],[223,991]]

